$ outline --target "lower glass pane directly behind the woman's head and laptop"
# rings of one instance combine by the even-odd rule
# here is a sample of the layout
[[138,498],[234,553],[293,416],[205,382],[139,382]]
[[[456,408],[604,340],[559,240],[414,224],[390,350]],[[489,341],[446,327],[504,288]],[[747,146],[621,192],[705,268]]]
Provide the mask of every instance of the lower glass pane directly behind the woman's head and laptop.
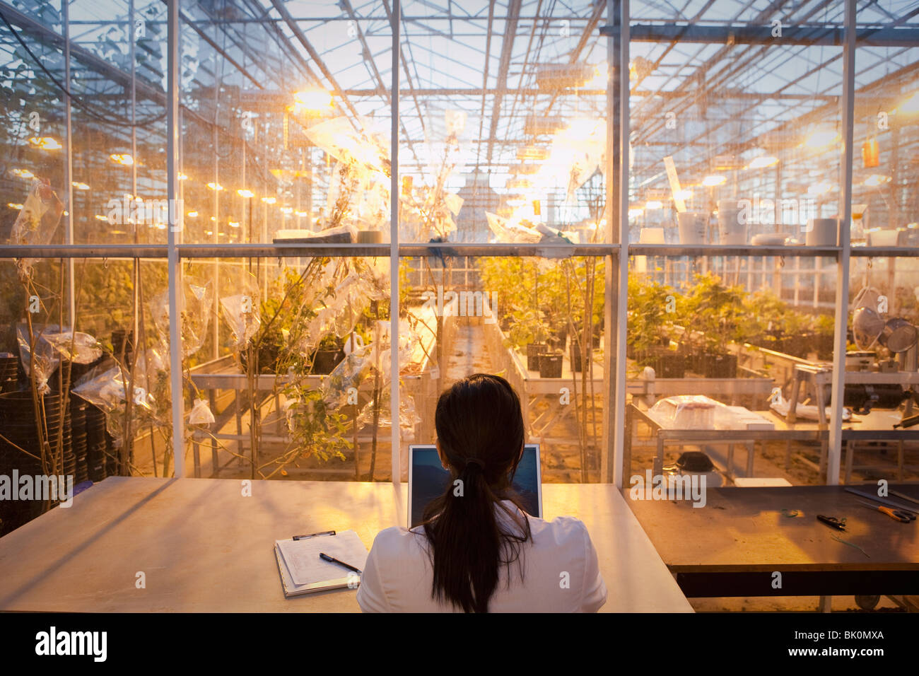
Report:
[[542,444],[542,480],[600,481],[604,264],[402,258],[403,324],[418,345],[403,362],[403,447],[434,442],[440,393],[495,373],[520,397],[526,441]]

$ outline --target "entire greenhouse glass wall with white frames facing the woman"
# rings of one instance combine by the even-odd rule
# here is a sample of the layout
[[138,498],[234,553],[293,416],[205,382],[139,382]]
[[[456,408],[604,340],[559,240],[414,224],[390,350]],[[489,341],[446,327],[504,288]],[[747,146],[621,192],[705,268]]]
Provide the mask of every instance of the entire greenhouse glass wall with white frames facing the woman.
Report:
[[0,17],[0,471],[401,483],[491,372],[544,483],[919,478],[914,3]]

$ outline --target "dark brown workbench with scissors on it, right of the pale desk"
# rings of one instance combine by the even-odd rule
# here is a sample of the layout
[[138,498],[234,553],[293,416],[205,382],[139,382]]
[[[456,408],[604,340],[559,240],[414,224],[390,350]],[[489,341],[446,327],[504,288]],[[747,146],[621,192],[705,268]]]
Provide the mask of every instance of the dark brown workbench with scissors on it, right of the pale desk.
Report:
[[[915,484],[891,488],[919,498]],[[866,498],[845,487],[709,488],[701,508],[625,496],[687,597],[919,594],[919,522],[868,510],[858,504]],[[784,516],[783,509],[802,516]],[[846,532],[817,514],[845,517]],[[782,574],[780,589],[772,586],[775,572]]]

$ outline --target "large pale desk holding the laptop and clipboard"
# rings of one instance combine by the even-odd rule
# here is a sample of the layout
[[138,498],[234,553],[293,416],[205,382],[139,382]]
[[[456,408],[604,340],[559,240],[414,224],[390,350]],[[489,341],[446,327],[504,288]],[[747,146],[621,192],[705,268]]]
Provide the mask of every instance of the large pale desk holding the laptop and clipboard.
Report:
[[[369,547],[403,524],[389,483],[109,477],[0,538],[0,610],[54,612],[358,612],[356,590],[286,600],[273,544],[298,533],[357,531]],[[692,612],[615,487],[547,484],[547,518],[586,524],[605,612]],[[136,589],[136,574],[146,588]]]

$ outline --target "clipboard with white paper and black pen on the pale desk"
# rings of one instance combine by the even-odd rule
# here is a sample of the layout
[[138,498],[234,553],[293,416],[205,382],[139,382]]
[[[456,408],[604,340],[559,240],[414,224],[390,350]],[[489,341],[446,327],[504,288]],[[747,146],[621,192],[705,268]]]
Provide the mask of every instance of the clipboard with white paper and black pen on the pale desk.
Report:
[[316,534],[300,540],[276,540],[275,556],[285,598],[342,587],[357,589],[360,584],[357,573],[323,561],[320,553],[361,570],[367,564],[367,547],[354,531]]

